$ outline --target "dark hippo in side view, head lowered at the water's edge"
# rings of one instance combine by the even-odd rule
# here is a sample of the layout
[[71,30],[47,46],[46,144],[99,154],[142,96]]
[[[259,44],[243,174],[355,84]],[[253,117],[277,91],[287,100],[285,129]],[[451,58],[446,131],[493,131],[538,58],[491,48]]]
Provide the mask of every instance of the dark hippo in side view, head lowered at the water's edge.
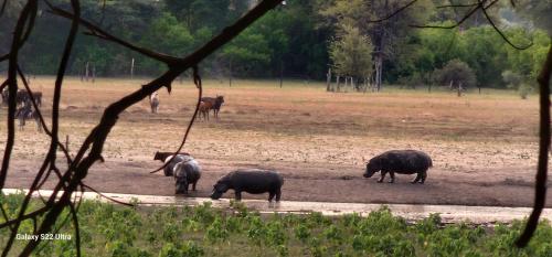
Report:
[[284,178],[274,171],[244,169],[232,171],[222,176],[213,186],[211,199],[217,200],[229,190],[234,190],[236,201],[242,200],[242,192],[262,194],[268,192],[268,202],[276,196],[279,202]]

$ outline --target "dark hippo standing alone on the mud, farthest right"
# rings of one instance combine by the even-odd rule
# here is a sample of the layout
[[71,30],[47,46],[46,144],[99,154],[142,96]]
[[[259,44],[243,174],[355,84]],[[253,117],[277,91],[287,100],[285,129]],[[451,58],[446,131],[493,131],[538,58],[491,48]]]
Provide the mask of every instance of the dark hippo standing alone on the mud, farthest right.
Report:
[[400,174],[414,174],[416,179],[412,183],[425,182],[427,170],[433,167],[432,158],[427,153],[416,150],[392,150],[376,156],[367,163],[367,172],[364,178],[371,178],[375,172],[381,171],[381,178],[378,183],[383,182],[385,174],[389,172],[391,180],[395,181],[395,172]]

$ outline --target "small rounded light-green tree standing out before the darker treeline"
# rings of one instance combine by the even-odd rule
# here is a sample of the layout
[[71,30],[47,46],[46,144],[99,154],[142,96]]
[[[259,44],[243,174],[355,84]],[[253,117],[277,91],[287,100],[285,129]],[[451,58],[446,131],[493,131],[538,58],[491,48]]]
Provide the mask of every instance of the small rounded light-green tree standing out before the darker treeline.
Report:
[[330,44],[330,58],[339,75],[364,78],[372,73],[372,44],[359,29],[344,24],[340,38]]

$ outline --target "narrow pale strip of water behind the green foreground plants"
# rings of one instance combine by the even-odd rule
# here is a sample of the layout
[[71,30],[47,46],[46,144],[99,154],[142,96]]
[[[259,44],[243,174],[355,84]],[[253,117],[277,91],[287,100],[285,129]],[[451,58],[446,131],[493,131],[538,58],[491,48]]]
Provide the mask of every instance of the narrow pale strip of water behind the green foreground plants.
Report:
[[[3,190],[11,194],[18,190]],[[49,196],[52,191],[41,190],[42,196]],[[181,196],[158,196],[139,194],[114,194],[106,193],[107,196],[121,202],[138,200],[141,205],[199,205],[211,202],[214,207],[230,208],[230,201],[222,199],[213,201],[205,197],[181,197]],[[36,195],[38,196],[38,195]],[[84,199],[95,200],[99,195],[86,192]],[[107,201],[103,199],[103,201]],[[359,203],[330,203],[330,202],[298,202],[282,201],[279,203],[268,203],[263,200],[244,200],[248,207],[261,213],[309,213],[320,212],[323,215],[336,216],[357,213],[361,216],[368,215],[372,211],[382,207],[381,204],[359,204]],[[402,216],[407,221],[418,221],[427,217],[432,213],[439,213],[444,223],[469,222],[474,224],[509,223],[513,219],[521,219],[529,215],[531,208],[528,207],[489,207],[489,206],[459,206],[459,205],[414,205],[414,204],[389,204],[393,214]],[[545,208],[541,218],[552,221],[552,208]]]

